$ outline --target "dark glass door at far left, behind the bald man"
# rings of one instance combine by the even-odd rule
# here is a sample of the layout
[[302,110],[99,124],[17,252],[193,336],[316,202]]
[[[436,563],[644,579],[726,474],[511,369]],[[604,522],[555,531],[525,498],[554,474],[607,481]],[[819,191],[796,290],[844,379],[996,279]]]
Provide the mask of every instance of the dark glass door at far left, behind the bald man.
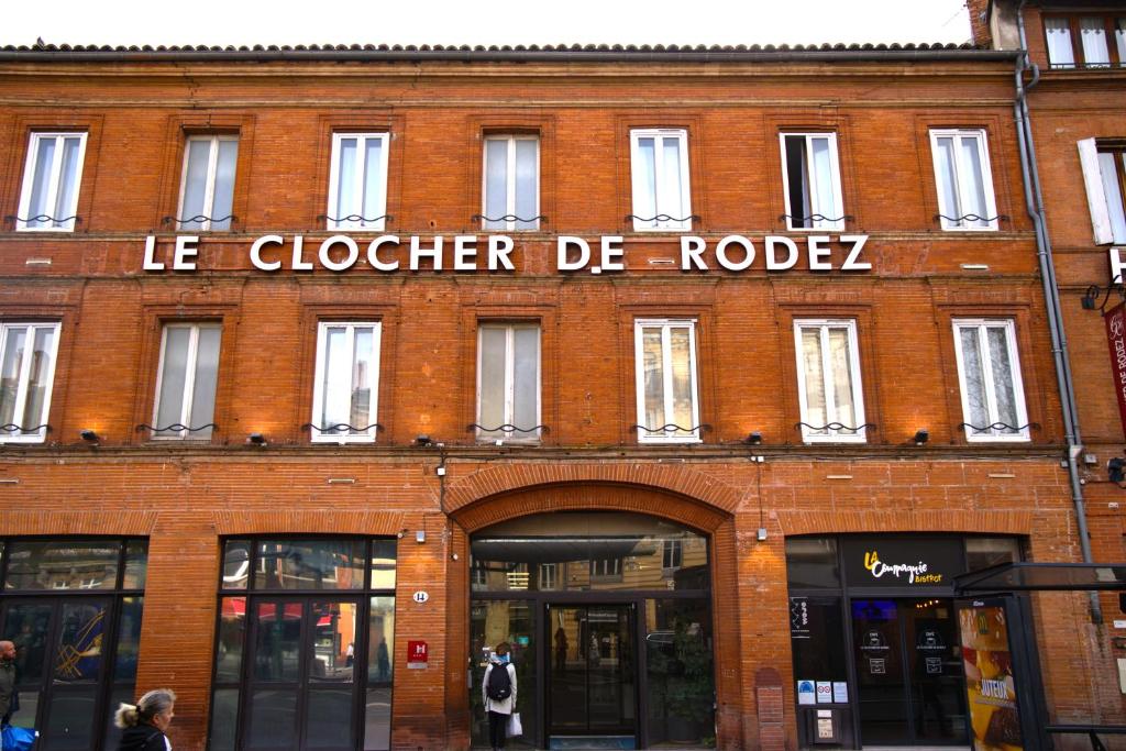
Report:
[[3,634],[16,644],[18,671],[14,722],[41,730],[41,751],[95,748],[108,618],[106,598],[17,600],[5,609]]

